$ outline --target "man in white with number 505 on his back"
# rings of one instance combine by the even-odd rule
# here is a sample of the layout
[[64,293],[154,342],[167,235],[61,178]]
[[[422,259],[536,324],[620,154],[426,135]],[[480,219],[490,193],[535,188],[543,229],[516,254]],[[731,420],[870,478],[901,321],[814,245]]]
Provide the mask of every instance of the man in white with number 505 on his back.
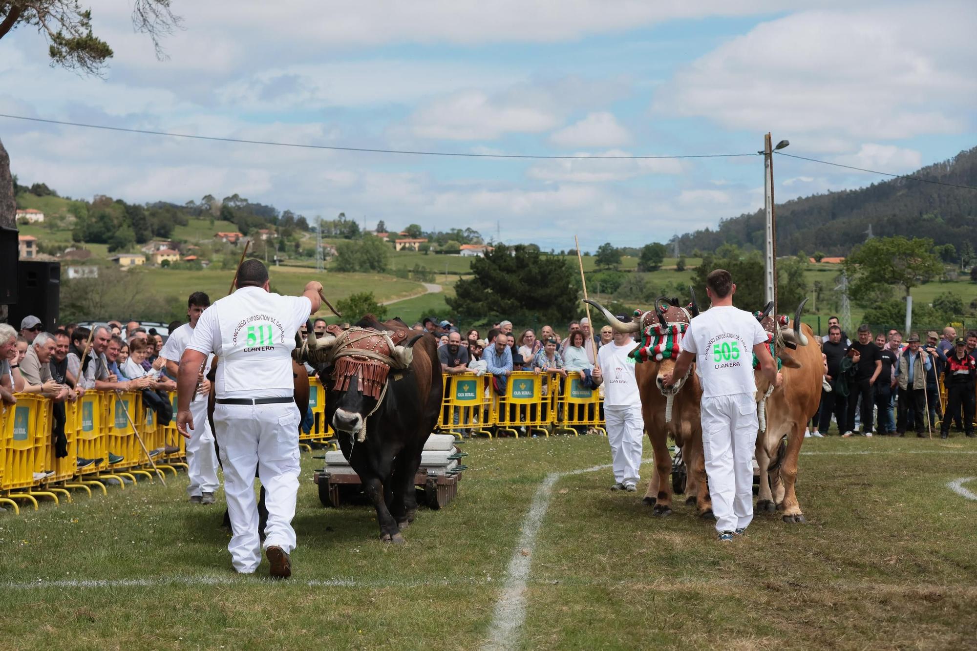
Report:
[[756,382],[750,353],[771,383],[780,386],[767,333],[753,315],[733,307],[736,285],[724,269],[705,279],[712,306],[692,320],[675,368],[662,381],[671,386],[693,362],[702,380],[702,452],[719,540],[743,535],[753,519],[753,452],[756,449]]

